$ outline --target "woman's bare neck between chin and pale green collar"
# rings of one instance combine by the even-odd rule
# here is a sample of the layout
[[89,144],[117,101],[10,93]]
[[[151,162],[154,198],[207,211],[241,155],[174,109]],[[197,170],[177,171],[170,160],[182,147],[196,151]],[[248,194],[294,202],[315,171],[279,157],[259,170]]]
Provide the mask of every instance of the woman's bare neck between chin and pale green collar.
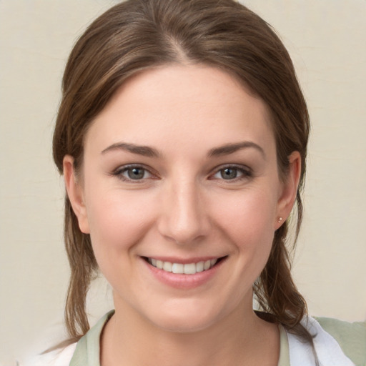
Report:
[[102,366],[152,365],[152,360],[159,366],[277,365],[278,328],[251,307],[192,332],[162,329],[129,310],[116,306],[104,328]]

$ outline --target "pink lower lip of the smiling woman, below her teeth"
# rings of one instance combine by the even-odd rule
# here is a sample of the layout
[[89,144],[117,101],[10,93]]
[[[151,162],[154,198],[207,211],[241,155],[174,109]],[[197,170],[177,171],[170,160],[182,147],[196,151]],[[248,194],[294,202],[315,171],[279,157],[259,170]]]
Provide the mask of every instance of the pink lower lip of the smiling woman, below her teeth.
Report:
[[209,280],[214,277],[214,274],[216,274],[216,272],[219,270],[219,267],[221,267],[222,263],[225,261],[225,259],[222,259],[217,264],[215,264],[214,267],[206,269],[202,272],[196,272],[194,274],[180,274],[164,271],[163,269],[152,266],[145,259],[142,260],[152,275],[157,278],[157,280],[164,283],[164,285],[168,285],[169,287],[184,290],[194,289],[209,282]]

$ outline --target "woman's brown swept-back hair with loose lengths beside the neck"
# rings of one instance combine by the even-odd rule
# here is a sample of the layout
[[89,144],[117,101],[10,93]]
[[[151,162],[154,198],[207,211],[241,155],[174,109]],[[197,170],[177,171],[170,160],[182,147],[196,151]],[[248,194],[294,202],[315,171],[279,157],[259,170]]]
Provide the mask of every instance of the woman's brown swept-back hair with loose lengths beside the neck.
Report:
[[[307,105],[285,46],[257,14],[234,0],[127,0],[99,16],[76,42],[64,71],[53,154],[62,174],[66,154],[82,167],[87,129],[124,81],[164,64],[207,64],[234,75],[263,99],[272,117],[281,177],[288,157],[301,154],[297,192],[298,234],[302,219],[300,190],[310,129]],[[254,284],[259,306],[290,332],[311,336],[300,324],[306,303],[290,274],[286,247],[288,222],[274,234],[266,267]],[[80,229],[65,198],[64,236],[71,267],[66,326],[72,340],[89,329],[86,294],[97,262],[90,237]]]

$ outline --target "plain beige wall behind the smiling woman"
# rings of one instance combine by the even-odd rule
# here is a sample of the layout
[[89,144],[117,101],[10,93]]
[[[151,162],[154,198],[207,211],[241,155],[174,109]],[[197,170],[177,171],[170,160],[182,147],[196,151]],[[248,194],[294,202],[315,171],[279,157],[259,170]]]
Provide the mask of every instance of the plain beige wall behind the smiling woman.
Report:
[[[0,365],[61,335],[68,266],[51,161],[61,74],[86,24],[116,1],[0,0]],[[366,1],[243,1],[279,31],[312,117],[294,274],[310,313],[366,320]],[[103,281],[91,319],[110,306]]]

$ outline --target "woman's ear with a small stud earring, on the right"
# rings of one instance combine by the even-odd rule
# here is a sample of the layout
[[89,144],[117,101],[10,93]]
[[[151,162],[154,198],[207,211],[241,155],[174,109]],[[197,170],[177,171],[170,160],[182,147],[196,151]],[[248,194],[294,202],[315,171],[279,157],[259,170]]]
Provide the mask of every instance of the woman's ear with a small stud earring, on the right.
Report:
[[285,177],[285,181],[282,184],[280,197],[277,202],[277,217],[274,222],[275,230],[277,230],[282,223],[286,221],[295,203],[301,173],[300,152],[292,152],[289,157],[289,163],[290,167],[287,172],[287,177]]

